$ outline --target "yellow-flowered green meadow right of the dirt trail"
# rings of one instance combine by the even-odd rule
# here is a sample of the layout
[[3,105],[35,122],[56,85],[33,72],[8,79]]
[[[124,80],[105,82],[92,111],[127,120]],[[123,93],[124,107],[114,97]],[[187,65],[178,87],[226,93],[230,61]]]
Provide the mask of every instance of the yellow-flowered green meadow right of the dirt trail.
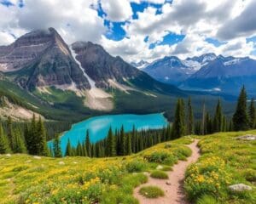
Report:
[[[256,141],[236,139],[247,133],[256,131],[200,137],[201,158],[186,172],[185,190],[190,201],[197,203],[212,196],[216,203],[256,203]],[[252,186],[253,190],[241,193],[228,190],[229,185],[241,183]]]

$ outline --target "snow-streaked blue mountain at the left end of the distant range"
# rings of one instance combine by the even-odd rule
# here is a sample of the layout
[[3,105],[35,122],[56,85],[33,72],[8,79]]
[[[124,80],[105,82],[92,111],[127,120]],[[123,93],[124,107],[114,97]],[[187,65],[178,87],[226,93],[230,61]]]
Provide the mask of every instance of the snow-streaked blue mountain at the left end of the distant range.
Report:
[[160,82],[178,85],[200,70],[201,66],[207,65],[207,63],[215,58],[215,54],[203,54],[200,57],[185,60],[178,59],[175,56],[164,57],[155,60],[146,66],[143,71]]

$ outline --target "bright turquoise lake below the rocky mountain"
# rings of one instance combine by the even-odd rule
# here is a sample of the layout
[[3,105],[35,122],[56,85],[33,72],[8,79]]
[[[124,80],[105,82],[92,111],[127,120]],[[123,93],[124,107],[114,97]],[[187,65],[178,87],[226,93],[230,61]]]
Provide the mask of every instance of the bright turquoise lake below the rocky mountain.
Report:
[[[64,154],[67,141],[73,146],[77,146],[79,141],[82,143],[85,139],[86,131],[89,130],[90,142],[96,143],[97,141],[107,137],[109,127],[120,129],[124,125],[125,133],[130,132],[132,127],[135,126],[137,130],[142,129],[160,129],[166,127],[168,124],[165,116],[162,113],[154,113],[147,115],[134,115],[134,114],[121,114],[121,115],[106,115],[90,117],[79,123],[73,124],[71,129],[61,136],[61,150]],[[52,141],[48,142],[52,146]]]

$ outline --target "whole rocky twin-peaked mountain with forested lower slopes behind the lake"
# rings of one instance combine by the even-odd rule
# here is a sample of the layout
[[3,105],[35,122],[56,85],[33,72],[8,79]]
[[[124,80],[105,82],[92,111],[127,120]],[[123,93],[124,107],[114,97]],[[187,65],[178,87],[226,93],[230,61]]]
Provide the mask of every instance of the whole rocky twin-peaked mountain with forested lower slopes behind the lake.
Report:
[[[172,108],[179,88],[158,82],[92,42],[68,46],[54,28],[0,47],[0,94],[46,119],[150,113]],[[16,107],[16,106],[15,106]]]

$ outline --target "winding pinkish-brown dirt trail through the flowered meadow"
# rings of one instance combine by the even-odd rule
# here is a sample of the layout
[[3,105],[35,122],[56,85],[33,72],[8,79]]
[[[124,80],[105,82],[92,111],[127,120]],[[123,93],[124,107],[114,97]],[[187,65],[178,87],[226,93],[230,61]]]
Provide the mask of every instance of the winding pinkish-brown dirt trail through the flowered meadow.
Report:
[[[188,157],[187,161],[178,161],[176,165],[172,167],[172,172],[168,172],[168,179],[151,178],[148,176],[148,183],[138,186],[134,190],[134,196],[137,198],[140,204],[188,204],[183,192],[183,180],[185,177],[186,168],[189,164],[197,161],[200,156],[200,149],[197,147],[198,140],[188,145],[192,150],[192,155]],[[166,184],[168,183],[168,184]],[[148,199],[139,194],[139,190],[143,186],[155,185],[165,191],[165,196]]]

